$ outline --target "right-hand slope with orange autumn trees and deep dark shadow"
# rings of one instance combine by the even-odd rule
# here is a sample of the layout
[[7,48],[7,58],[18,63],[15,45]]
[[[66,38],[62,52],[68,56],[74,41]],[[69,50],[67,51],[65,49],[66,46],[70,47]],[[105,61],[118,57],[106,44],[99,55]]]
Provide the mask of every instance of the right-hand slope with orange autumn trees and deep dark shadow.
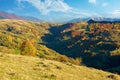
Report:
[[[120,23],[68,23],[42,37],[49,48],[81,58],[86,66],[113,71],[120,62]],[[111,70],[112,69],[112,70]]]

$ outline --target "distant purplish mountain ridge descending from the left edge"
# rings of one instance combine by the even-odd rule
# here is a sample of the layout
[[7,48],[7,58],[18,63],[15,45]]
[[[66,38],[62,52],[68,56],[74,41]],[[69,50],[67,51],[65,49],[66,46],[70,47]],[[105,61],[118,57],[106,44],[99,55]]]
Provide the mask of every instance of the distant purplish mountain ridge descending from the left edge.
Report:
[[43,20],[40,20],[32,16],[18,16],[16,14],[11,14],[7,12],[0,12],[0,19],[18,19],[18,20],[27,20],[33,22],[43,22]]

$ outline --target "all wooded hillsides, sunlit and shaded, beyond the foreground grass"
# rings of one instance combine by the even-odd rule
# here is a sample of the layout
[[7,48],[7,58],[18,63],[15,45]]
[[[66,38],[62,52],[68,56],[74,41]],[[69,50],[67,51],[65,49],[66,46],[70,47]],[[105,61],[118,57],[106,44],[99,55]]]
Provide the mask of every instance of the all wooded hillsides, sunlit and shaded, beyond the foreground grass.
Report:
[[0,52],[84,64],[120,74],[120,23],[0,20]]

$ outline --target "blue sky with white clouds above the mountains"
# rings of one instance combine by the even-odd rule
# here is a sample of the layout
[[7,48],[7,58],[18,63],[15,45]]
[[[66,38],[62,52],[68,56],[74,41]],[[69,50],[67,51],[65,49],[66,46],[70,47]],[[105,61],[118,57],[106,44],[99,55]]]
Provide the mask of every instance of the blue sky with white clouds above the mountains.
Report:
[[75,18],[120,18],[120,0],[0,0],[0,11],[64,22]]

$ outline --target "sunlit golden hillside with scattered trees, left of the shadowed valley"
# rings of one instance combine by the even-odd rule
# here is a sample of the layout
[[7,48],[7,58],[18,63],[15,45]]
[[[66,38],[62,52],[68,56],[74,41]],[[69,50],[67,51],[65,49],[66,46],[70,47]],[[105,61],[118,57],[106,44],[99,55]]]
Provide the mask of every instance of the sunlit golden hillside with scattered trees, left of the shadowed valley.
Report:
[[45,34],[51,34],[48,29],[52,25],[59,24],[0,20],[0,52],[38,56],[50,60],[79,64],[77,59],[68,58],[43,45],[41,37]]

